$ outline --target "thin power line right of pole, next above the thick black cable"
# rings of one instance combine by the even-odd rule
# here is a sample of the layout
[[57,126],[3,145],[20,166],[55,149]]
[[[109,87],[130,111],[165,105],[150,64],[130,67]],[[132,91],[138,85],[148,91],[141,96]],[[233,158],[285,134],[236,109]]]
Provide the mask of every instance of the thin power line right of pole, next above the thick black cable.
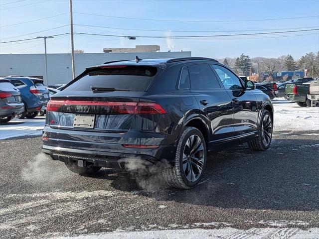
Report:
[[[185,31],[185,30],[153,30],[153,29],[134,29],[134,28],[119,28],[119,27],[107,27],[107,26],[94,26],[94,25],[84,25],[84,24],[74,24],[77,26],[86,26],[86,27],[97,27],[97,28],[108,28],[108,29],[119,29],[119,30],[133,30],[133,31],[158,31],[158,32],[245,32],[245,31],[273,31],[273,30],[289,30],[289,29],[304,29],[304,28],[312,28],[318,26],[306,26],[306,27],[290,27],[290,28],[275,28],[275,29],[253,29],[253,30],[206,30],[206,31]],[[93,28],[91,28],[93,29]],[[109,31],[112,32],[112,31]],[[112,32],[118,33],[118,32]]]

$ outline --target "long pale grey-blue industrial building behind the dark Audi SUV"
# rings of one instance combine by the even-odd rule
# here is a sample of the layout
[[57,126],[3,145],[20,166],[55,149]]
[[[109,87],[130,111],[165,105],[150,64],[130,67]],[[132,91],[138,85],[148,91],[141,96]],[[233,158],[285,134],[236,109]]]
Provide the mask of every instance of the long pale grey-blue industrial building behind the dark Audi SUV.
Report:
[[[75,73],[81,74],[88,66],[108,61],[190,57],[190,51],[181,52],[123,52],[75,54]],[[66,84],[72,80],[71,54],[47,54],[48,84]],[[33,76],[45,79],[44,54],[1,54],[0,76]]]

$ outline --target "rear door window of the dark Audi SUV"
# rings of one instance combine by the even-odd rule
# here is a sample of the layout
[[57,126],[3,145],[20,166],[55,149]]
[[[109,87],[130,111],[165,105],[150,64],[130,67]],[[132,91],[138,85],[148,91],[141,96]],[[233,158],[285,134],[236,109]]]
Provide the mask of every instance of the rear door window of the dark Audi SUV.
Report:
[[220,89],[218,81],[208,64],[188,66],[188,71],[192,90]]

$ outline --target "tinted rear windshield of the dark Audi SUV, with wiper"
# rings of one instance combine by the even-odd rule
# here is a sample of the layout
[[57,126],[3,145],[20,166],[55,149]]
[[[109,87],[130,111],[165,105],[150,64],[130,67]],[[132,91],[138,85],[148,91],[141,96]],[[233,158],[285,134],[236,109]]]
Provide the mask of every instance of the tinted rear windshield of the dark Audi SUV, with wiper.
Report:
[[91,91],[91,86],[129,91],[145,91],[157,73],[156,67],[123,66],[89,72],[66,91]]

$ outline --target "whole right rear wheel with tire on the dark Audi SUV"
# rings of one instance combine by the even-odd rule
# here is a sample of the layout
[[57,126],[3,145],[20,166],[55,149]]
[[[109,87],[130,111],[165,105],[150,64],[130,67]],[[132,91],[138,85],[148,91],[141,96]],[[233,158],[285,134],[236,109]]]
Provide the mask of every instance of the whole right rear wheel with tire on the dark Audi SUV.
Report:
[[[192,142],[194,143],[192,144]],[[189,144],[193,148],[189,149]],[[196,152],[187,155],[189,150],[191,151],[194,148],[197,149]],[[195,127],[185,127],[178,140],[174,166],[164,169],[163,177],[171,187],[191,189],[196,187],[200,182],[205,164],[206,143],[202,133]]]

